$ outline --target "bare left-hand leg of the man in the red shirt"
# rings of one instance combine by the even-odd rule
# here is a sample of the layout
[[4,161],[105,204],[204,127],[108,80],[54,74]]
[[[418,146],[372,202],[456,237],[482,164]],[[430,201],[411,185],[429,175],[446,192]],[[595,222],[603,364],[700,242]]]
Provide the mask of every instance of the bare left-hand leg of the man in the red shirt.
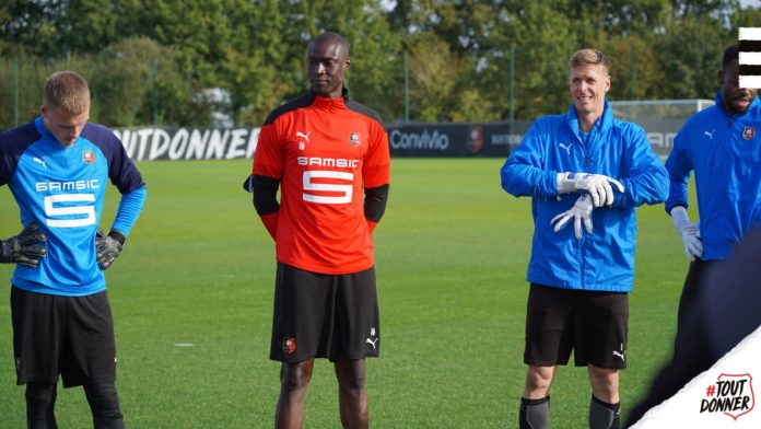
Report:
[[314,359],[283,362],[280,367],[280,397],[274,411],[274,427],[301,428],[304,420],[304,398],[312,380]]

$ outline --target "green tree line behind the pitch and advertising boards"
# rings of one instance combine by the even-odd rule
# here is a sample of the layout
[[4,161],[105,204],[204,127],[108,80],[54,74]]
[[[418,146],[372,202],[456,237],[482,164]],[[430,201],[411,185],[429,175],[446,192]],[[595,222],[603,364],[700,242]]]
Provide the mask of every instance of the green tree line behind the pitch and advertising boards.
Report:
[[[0,128],[37,115],[44,79],[80,72],[94,121],[259,125],[307,86],[307,43],[351,43],[348,85],[388,123],[532,119],[569,104],[567,58],[611,60],[611,100],[713,98],[738,0],[7,0]],[[229,100],[209,94],[221,89]]]

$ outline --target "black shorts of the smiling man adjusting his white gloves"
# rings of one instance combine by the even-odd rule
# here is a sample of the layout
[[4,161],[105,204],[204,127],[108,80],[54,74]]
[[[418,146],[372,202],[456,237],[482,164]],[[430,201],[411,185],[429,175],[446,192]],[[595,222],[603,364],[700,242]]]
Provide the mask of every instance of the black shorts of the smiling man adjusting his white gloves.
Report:
[[524,362],[627,368],[629,294],[550,288],[531,283]]

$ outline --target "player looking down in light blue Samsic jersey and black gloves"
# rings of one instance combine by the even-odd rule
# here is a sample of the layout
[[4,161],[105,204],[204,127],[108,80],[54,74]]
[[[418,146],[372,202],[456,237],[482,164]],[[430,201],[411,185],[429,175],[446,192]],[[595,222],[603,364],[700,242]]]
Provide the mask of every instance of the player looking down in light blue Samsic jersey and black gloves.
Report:
[[[87,82],[72,71],[45,82],[42,116],[0,134],[0,185],[23,231],[2,241],[11,279],[17,384],[26,384],[30,428],[56,428],[59,374],[82,385],[95,428],[124,428],[116,391],[114,321],[103,271],[121,252],[145,185],[121,141],[90,124]],[[107,235],[98,223],[108,181],[121,193]]]

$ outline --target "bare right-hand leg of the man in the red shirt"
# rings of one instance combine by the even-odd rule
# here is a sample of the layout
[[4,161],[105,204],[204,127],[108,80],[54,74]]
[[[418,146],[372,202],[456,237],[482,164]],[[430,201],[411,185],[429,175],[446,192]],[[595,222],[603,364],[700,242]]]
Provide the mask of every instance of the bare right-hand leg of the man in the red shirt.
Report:
[[343,427],[366,429],[370,411],[367,392],[365,391],[364,359],[337,359],[336,378],[338,379],[338,403]]

